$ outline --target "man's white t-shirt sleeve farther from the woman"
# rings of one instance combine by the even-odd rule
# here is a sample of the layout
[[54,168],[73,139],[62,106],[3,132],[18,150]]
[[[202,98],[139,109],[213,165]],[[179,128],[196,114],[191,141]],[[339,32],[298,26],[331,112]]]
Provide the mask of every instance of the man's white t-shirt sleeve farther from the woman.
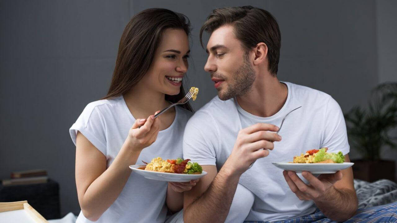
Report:
[[330,98],[325,115],[325,128],[322,136],[321,148],[328,148],[327,152],[339,152],[343,155],[350,152],[347,140],[345,118],[339,104]]

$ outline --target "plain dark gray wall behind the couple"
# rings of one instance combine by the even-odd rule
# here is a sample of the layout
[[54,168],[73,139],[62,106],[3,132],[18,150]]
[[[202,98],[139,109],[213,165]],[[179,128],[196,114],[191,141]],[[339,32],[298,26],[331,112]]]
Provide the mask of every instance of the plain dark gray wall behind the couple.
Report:
[[213,8],[242,5],[269,10],[279,22],[279,79],[327,92],[344,112],[365,105],[380,81],[396,81],[392,1],[1,1],[0,178],[47,169],[60,183],[62,215],[77,213],[68,129],[87,103],[106,94],[131,16],[158,7],[191,19],[188,75],[189,86],[200,89],[198,109],[216,95],[203,70],[200,26]]

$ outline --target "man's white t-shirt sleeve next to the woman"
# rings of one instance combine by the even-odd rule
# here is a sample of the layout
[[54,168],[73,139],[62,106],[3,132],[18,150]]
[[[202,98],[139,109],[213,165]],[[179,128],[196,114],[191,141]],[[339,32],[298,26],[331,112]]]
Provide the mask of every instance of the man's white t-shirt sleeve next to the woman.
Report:
[[190,159],[200,165],[216,165],[219,137],[211,119],[212,117],[200,111],[189,119],[183,135],[184,159]]

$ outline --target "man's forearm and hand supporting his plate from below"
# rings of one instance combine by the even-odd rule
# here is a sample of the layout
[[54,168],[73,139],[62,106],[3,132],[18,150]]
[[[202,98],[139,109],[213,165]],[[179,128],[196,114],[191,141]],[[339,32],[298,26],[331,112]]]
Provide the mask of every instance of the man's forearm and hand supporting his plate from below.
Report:
[[[350,162],[348,154],[345,155],[345,162]],[[318,178],[303,172],[302,176],[309,181],[309,185],[292,171],[284,171],[283,174],[299,199],[313,200],[329,219],[346,221],[355,215],[358,202],[351,167],[334,174],[322,174]]]

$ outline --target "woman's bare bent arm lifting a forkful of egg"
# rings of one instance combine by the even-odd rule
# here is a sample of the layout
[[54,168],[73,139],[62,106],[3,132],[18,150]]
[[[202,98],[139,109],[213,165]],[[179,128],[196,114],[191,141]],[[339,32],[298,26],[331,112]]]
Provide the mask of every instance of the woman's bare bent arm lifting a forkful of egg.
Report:
[[118,198],[131,175],[129,165],[136,163],[141,150],[156,140],[160,120],[151,117],[140,129],[137,127],[143,122],[137,120],[134,123],[108,169],[106,157],[83,134],[77,133],[77,196],[83,215],[90,221],[98,220]]

